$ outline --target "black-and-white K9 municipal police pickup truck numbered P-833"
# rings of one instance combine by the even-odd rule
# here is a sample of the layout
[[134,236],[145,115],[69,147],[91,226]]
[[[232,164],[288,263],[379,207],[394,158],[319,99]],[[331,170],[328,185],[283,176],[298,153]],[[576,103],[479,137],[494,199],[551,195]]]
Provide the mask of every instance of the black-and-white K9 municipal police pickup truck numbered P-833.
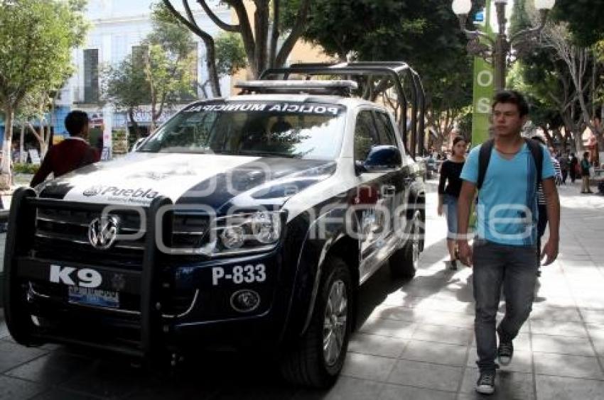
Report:
[[382,265],[414,276],[423,179],[392,113],[345,95],[357,82],[240,87],[122,159],[16,191],[4,303],[18,343],[267,349],[291,382],[335,382],[360,285]]

